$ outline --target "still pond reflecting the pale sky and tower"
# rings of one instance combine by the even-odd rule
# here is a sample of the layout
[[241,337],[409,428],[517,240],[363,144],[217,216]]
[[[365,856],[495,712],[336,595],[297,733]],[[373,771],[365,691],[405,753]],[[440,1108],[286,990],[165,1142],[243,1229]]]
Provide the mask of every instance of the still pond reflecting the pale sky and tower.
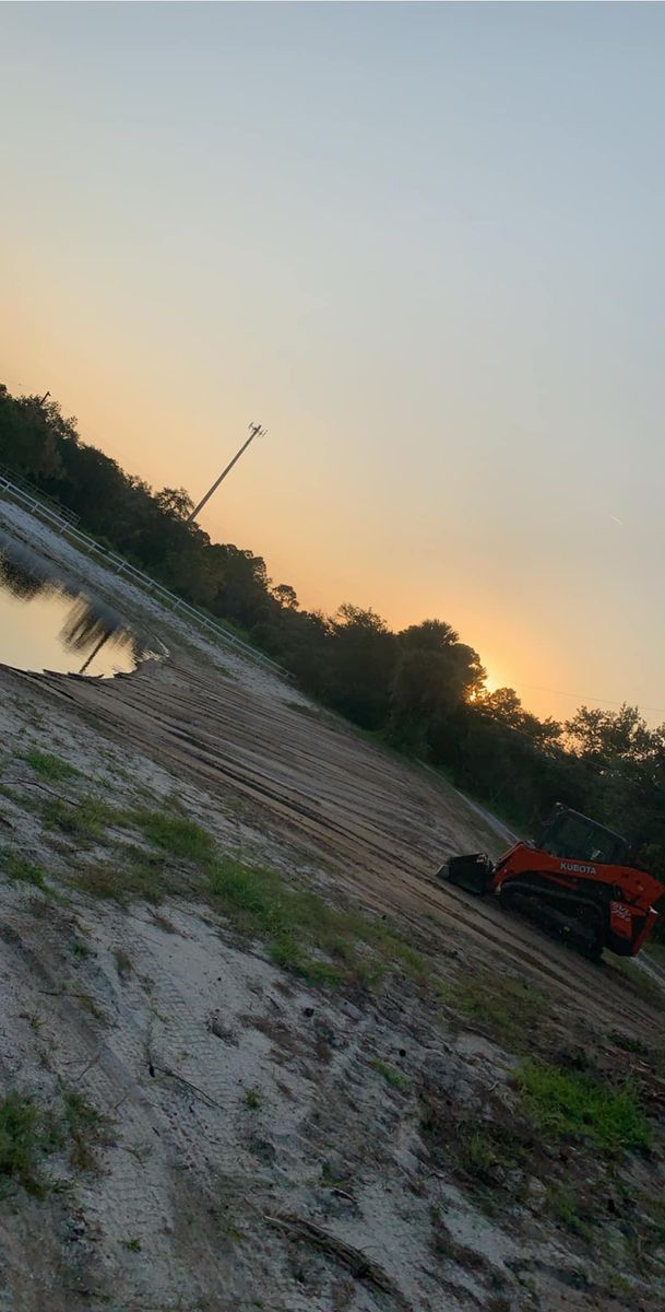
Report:
[[113,606],[0,531],[0,661],[109,678],[153,655]]

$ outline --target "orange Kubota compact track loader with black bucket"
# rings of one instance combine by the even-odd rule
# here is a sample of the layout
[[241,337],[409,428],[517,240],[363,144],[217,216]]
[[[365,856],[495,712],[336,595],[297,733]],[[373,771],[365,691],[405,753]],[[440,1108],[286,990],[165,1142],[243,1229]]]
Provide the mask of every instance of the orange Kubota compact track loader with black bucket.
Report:
[[452,857],[439,878],[480,897],[495,895],[593,959],[603,947],[635,956],[653,933],[653,903],[665,892],[631,861],[626,838],[563,806],[535,841],[516,842],[496,863],[482,851]]

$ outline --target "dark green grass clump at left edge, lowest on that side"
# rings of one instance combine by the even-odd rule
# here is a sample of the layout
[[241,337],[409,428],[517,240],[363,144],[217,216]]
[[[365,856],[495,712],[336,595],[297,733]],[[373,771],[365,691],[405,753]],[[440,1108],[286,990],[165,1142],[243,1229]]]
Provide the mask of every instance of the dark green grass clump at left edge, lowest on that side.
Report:
[[62,1147],[56,1118],[29,1094],[13,1090],[0,1102],[0,1177],[43,1198],[51,1182],[43,1170],[45,1156]]

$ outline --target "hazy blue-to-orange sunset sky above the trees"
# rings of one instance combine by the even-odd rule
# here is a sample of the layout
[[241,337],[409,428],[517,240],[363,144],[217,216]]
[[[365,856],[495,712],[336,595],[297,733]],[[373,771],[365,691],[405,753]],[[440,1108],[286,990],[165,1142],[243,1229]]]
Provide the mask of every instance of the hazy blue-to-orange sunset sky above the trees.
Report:
[[0,379],[301,604],[665,720],[665,8],[1,4]]

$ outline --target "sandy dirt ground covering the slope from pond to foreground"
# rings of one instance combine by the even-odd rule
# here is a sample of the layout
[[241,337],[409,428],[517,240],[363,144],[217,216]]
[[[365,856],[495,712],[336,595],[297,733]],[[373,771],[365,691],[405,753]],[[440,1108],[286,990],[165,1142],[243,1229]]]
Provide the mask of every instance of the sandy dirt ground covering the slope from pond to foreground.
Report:
[[[505,846],[445,781],[0,518],[170,651],[109,681],[0,668],[0,1092],[84,1099],[37,1194],[3,1166],[0,1119],[0,1309],[662,1308],[657,984],[437,880],[448,855]],[[106,811],[84,833],[63,808],[90,798]],[[99,896],[99,871],[149,855],[139,804],[395,926],[427,968],[313,983],[175,857],[158,905]],[[648,1152],[601,1161],[529,1128],[534,1055],[627,1078]]]

